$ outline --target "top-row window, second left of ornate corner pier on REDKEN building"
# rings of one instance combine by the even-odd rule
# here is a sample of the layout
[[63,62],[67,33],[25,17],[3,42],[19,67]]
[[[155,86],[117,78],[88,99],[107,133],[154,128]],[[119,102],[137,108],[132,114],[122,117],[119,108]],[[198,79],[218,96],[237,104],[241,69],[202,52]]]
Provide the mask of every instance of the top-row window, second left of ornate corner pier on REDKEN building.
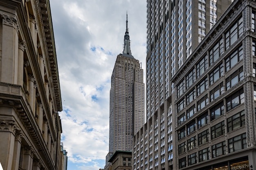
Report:
[[220,39],[214,46],[209,50],[209,61],[212,65],[223,53],[223,39]]

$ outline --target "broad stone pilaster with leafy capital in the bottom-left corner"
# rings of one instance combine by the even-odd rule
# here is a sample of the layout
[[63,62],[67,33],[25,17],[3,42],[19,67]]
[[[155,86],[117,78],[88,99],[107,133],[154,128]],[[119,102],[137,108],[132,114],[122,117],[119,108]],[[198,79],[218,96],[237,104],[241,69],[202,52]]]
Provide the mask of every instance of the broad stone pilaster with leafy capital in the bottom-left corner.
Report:
[[0,162],[4,170],[11,170],[15,143],[15,122],[0,120]]

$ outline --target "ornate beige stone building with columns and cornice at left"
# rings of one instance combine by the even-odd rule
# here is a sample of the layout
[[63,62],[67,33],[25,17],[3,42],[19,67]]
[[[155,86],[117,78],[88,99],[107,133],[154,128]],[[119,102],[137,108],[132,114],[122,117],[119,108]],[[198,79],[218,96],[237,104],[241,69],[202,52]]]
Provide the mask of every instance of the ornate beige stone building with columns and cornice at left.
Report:
[[0,1],[0,162],[58,170],[62,110],[49,0]]

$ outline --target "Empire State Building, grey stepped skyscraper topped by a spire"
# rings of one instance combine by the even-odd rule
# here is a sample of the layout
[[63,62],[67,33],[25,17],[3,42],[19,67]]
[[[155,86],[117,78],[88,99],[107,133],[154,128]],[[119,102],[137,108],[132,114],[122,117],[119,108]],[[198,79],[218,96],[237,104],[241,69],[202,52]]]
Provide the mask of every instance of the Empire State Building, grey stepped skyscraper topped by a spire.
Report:
[[143,70],[132,56],[128,21],[124,35],[124,51],[117,56],[111,76],[109,152],[111,158],[118,151],[132,151],[132,137],[144,125]]

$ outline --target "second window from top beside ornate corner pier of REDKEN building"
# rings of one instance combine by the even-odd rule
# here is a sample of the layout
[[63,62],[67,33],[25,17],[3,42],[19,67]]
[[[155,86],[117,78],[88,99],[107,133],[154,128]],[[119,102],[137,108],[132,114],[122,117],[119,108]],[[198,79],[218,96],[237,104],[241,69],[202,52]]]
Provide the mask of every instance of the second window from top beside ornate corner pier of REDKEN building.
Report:
[[226,72],[243,59],[243,46],[240,46],[229,57],[226,58]]

